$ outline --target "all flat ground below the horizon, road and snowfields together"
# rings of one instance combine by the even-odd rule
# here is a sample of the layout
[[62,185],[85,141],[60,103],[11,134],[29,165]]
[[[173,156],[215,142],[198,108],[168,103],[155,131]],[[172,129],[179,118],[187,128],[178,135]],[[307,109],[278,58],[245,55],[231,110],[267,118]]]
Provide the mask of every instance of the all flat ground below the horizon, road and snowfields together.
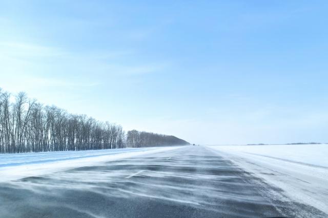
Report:
[[327,148],[0,155],[0,217],[328,217]]

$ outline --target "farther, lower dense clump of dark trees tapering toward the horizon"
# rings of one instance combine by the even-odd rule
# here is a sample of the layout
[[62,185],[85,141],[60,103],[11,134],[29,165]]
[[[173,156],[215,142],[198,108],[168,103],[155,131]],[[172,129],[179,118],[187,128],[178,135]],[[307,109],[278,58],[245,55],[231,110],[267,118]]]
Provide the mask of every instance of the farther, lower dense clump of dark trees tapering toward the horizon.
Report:
[[127,133],[127,145],[129,147],[150,147],[166,145],[187,145],[189,142],[175,136],[160,135],[155,133],[139,132],[131,130]]

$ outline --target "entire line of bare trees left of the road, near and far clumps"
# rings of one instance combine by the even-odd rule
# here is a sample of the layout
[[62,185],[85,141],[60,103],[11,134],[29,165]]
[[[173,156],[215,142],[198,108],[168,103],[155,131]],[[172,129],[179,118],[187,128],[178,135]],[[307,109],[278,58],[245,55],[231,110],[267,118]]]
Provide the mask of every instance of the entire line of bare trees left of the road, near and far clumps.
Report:
[[130,144],[120,125],[69,114],[56,106],[44,106],[28,99],[25,93],[17,94],[14,101],[10,99],[10,93],[0,89],[0,153],[144,147],[180,142],[172,136],[151,134],[153,137],[149,137],[151,135],[140,133],[148,137]]

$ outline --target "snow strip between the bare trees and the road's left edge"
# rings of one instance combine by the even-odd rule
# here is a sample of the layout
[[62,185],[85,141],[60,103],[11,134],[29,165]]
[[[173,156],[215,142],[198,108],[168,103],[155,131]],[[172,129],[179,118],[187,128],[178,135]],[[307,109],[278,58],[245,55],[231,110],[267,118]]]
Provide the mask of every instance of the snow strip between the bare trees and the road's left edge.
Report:
[[0,155],[0,182],[38,176],[80,166],[152,154],[179,147],[121,148]]

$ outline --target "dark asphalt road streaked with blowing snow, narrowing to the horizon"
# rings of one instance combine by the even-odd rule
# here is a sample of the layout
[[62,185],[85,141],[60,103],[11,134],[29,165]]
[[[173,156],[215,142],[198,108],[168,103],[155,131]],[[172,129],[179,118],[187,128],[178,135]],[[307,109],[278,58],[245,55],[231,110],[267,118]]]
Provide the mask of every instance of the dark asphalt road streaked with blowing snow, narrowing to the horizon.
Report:
[[0,217],[6,218],[308,214],[325,216],[202,146],[0,183]]

